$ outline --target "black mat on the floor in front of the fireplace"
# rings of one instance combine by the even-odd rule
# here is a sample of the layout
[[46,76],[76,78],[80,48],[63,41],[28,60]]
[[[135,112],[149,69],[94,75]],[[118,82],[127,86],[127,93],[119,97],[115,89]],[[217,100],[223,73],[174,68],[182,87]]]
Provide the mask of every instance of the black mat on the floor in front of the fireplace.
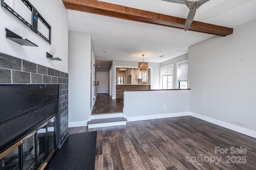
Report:
[[97,132],[70,134],[46,170],[94,170]]

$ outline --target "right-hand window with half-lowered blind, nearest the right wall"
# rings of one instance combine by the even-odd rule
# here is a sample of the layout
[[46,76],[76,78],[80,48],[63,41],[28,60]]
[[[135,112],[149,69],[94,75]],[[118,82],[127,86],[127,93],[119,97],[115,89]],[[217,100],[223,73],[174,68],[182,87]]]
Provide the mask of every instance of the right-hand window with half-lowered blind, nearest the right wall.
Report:
[[177,85],[179,89],[188,89],[188,60],[177,63]]

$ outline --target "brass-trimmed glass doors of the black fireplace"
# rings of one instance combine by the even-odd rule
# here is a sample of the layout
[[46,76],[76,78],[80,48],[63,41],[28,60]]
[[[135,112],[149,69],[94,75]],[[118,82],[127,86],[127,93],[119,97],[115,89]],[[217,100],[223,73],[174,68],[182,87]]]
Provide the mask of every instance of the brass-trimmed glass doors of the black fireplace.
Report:
[[[0,170],[44,169],[55,151],[55,117],[0,154]],[[36,161],[37,160],[37,161]]]

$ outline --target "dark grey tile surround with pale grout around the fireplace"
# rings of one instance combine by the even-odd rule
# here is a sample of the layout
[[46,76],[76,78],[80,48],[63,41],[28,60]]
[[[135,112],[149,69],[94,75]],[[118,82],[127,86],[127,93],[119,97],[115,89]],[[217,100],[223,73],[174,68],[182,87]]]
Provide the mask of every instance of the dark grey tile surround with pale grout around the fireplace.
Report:
[[68,136],[68,73],[0,53],[0,84],[60,85],[60,146]]

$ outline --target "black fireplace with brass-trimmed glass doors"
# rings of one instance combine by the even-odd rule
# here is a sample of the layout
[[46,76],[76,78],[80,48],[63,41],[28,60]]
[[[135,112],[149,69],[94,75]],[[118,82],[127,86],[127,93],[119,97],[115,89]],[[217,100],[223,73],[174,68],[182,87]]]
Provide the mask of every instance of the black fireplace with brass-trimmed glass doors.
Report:
[[58,149],[59,85],[0,85],[0,170],[44,169]]

